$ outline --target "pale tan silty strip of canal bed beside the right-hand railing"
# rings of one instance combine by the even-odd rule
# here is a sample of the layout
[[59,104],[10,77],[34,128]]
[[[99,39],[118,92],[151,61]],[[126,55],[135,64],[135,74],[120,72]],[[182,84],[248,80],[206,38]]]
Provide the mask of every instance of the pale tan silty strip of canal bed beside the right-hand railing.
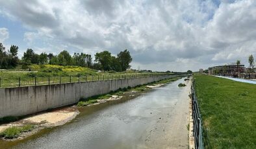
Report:
[[186,87],[175,106],[164,108],[164,114],[158,115],[156,124],[147,129],[146,144],[150,148],[188,148],[188,122],[191,81],[186,81]]

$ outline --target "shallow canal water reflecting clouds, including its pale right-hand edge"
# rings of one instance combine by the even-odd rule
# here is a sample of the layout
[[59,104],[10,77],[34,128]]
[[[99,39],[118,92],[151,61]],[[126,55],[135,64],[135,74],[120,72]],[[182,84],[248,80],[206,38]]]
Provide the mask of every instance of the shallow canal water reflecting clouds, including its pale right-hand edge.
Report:
[[75,120],[14,148],[188,148],[189,91],[182,78],[133,99],[83,108]]

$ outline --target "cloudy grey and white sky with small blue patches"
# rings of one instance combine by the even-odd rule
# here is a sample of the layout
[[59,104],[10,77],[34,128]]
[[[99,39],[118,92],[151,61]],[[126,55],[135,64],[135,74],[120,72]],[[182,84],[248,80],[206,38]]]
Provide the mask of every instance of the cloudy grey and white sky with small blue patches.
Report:
[[37,53],[128,49],[133,69],[198,71],[256,56],[255,0],[0,0],[0,42]]

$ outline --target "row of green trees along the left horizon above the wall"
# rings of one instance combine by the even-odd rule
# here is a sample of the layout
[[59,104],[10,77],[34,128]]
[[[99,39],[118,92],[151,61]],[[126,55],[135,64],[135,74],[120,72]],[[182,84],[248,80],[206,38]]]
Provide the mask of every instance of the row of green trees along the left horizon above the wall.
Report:
[[127,49],[121,51],[117,56],[112,56],[109,51],[97,52],[95,54],[95,60],[92,61],[90,54],[83,52],[75,52],[73,56],[64,50],[59,54],[53,53],[36,54],[32,49],[27,49],[23,53],[22,58],[18,58],[18,49],[16,45],[11,45],[9,50],[5,50],[5,47],[0,43],[0,69],[12,69],[17,65],[22,65],[23,69],[26,69],[31,64],[51,64],[51,65],[76,65],[81,67],[89,67],[92,69],[103,71],[126,71],[131,67],[130,63],[133,58]]

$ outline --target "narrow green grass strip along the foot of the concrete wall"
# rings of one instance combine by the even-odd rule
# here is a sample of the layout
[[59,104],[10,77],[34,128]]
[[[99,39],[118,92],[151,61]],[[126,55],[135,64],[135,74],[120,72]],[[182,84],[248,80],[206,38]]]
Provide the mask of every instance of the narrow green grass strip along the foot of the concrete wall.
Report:
[[97,95],[94,97],[89,97],[89,98],[80,98],[80,101],[78,102],[77,106],[87,106],[88,104],[94,104],[97,103],[97,100],[99,99],[107,99],[112,97],[112,95],[122,95],[125,91],[145,91],[147,89],[149,89],[149,87],[147,86],[153,86],[156,84],[167,84],[170,82],[173,82],[175,80],[178,80],[181,77],[175,77],[175,78],[168,78],[168,79],[164,79],[164,80],[160,80],[159,82],[152,82],[149,84],[145,84],[145,85],[140,85],[140,86],[136,86],[136,87],[125,87],[123,89],[118,89],[117,91],[111,91],[108,94],[103,94],[103,95]]

